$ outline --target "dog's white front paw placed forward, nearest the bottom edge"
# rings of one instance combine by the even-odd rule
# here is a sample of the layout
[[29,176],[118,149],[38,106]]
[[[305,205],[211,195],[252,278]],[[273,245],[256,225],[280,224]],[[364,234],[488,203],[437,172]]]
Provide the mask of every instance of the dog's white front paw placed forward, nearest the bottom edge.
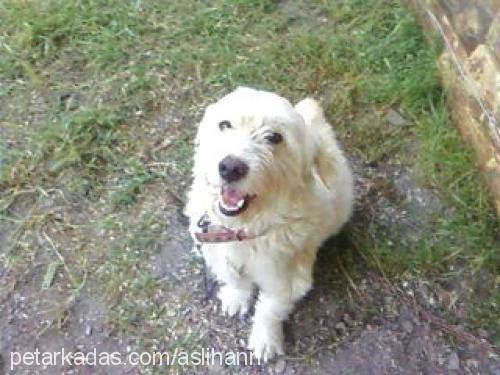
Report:
[[255,325],[248,339],[248,349],[253,351],[257,360],[267,362],[275,355],[284,354],[283,329],[281,325]]

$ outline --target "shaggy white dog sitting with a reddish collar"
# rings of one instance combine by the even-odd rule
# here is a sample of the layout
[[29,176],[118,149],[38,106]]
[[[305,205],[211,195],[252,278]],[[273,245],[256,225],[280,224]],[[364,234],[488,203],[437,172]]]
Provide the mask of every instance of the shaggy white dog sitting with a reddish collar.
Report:
[[190,232],[222,283],[225,314],[244,314],[259,289],[249,349],[283,354],[282,323],[312,286],[318,247],[349,219],[351,170],[316,101],[295,108],[238,88],[199,125]]

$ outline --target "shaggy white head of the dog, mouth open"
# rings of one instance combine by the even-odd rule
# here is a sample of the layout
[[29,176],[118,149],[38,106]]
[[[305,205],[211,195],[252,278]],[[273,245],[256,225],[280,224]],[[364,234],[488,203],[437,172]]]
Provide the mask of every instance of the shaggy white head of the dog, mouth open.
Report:
[[210,105],[196,142],[195,174],[225,217],[272,210],[311,178],[313,147],[304,119],[270,92],[238,88]]

